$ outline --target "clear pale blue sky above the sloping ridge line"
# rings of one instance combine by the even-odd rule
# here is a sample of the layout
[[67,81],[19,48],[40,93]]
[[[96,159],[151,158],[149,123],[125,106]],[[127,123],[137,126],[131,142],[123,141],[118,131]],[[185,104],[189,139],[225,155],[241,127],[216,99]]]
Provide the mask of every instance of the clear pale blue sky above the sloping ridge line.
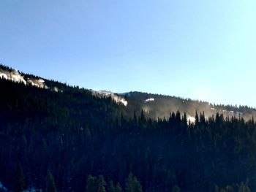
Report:
[[256,107],[255,0],[1,0],[0,63],[96,90]]

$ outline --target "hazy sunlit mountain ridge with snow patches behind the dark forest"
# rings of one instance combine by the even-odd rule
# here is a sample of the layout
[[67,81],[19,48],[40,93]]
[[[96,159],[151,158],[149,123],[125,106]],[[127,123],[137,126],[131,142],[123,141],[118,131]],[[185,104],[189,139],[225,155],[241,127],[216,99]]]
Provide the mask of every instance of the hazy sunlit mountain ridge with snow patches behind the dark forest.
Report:
[[[63,92],[65,88],[72,87],[66,83],[55,80],[47,80],[33,74],[26,74],[9,66],[0,65],[0,78],[11,80],[13,82],[21,82],[25,85],[36,86],[37,88],[45,88],[50,91]],[[78,86],[73,86],[79,88]],[[85,88],[86,89],[86,88]],[[181,113],[187,113],[188,118],[195,117],[196,112],[204,112],[206,118],[223,114],[225,118],[256,118],[256,110],[248,106],[233,106],[225,104],[212,104],[208,101],[200,101],[193,99],[184,99],[178,96],[167,96],[156,93],[143,93],[140,91],[130,91],[127,93],[114,93],[112,91],[91,91],[94,96],[110,97],[117,104],[122,104],[126,107],[126,111],[131,116],[133,112],[146,112],[148,118],[168,118],[171,112],[179,110]]]

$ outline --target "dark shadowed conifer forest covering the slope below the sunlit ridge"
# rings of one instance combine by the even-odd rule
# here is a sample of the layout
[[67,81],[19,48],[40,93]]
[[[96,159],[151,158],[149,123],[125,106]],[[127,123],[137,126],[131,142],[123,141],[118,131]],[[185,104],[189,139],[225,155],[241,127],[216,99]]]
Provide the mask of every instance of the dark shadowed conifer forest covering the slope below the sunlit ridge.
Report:
[[0,79],[0,191],[256,191],[253,118],[154,119],[61,86]]

